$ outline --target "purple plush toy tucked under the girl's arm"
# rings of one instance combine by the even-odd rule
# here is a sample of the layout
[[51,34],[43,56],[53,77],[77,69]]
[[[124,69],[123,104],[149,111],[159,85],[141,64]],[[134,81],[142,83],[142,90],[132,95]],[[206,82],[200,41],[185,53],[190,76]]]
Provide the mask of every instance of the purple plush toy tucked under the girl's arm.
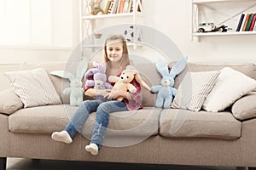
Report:
[[[92,64],[94,68],[89,69],[84,75],[85,86],[93,87],[96,90],[112,89],[113,86],[107,82],[105,65],[96,62]],[[93,77],[93,80],[90,77]],[[96,96],[96,99],[104,100],[103,96]]]

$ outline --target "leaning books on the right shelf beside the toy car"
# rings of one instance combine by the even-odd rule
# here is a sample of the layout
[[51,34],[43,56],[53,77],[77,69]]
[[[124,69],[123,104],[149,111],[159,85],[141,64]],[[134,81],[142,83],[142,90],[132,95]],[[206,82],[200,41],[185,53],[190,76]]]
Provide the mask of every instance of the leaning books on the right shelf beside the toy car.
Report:
[[256,31],[256,13],[241,14],[236,31]]

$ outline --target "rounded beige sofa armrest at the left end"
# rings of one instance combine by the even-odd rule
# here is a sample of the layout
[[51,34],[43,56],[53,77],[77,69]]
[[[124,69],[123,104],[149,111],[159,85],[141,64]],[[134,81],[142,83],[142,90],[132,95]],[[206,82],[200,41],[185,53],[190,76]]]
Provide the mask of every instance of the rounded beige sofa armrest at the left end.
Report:
[[22,107],[23,103],[15,94],[15,89],[9,88],[0,92],[0,113],[10,115]]

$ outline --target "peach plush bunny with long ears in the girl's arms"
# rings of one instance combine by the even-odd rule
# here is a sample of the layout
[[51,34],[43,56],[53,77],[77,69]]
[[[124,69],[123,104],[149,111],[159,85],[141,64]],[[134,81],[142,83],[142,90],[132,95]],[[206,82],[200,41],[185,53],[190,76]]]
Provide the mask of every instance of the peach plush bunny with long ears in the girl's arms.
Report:
[[[134,94],[137,92],[137,88],[135,88],[130,83],[134,78],[137,80],[137,82],[139,82],[141,85],[143,85],[144,88],[146,88],[146,89],[148,89],[148,91],[150,91],[148,84],[143,81],[143,79],[140,77],[138,71],[132,65],[127,65],[125,71],[122,71],[122,73],[119,77],[116,77],[116,76],[108,77],[108,81],[115,82],[112,90],[122,90],[125,92],[127,92],[127,90],[129,90],[129,92],[131,94]],[[123,99],[124,99],[123,97],[119,97],[117,100],[122,101]]]

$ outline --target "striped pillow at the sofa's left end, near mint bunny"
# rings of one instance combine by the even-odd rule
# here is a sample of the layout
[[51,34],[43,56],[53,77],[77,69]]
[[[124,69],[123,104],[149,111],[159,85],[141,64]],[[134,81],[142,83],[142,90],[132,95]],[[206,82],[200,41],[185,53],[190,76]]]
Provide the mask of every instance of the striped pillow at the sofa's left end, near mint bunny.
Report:
[[5,72],[24,108],[61,104],[60,96],[43,68]]

